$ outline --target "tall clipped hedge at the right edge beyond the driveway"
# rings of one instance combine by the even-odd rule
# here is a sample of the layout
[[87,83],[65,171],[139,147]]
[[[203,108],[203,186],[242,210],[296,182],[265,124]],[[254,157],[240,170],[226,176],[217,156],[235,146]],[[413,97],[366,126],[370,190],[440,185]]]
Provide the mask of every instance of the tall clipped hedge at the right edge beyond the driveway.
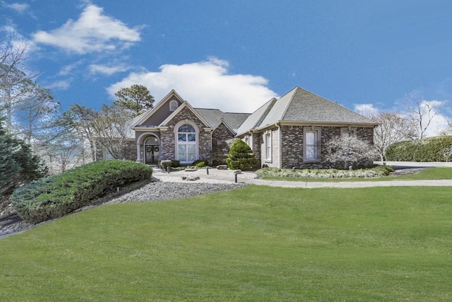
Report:
[[452,136],[400,141],[388,146],[386,161],[452,161]]

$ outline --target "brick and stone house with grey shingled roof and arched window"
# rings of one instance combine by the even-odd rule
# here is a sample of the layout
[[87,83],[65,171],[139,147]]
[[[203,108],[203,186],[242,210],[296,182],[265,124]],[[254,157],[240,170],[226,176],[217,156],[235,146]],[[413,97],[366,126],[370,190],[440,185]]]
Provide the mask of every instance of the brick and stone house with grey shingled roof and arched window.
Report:
[[373,144],[377,125],[299,87],[251,114],[193,108],[173,90],[129,124],[135,133],[136,161],[142,163],[167,159],[181,164],[197,159],[223,163],[230,142],[242,139],[261,166],[277,168],[321,167],[326,141],[356,135]]

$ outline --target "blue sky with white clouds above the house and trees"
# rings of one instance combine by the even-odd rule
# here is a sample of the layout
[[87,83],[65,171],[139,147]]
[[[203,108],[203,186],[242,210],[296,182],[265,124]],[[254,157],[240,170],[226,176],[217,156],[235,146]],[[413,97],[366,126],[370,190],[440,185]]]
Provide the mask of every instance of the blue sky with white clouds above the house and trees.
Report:
[[[300,86],[353,110],[415,89],[452,117],[452,2],[0,0],[1,33],[63,108],[141,83],[197,108],[252,112]],[[441,120],[442,119],[442,120]]]

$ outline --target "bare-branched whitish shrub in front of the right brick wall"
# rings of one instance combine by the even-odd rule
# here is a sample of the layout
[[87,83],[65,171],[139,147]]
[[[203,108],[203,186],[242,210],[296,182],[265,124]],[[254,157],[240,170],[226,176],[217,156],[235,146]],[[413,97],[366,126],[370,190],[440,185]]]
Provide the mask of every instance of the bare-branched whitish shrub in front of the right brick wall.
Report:
[[378,157],[374,146],[355,136],[335,137],[325,144],[324,149],[326,161],[334,165],[343,164],[343,168],[366,164]]

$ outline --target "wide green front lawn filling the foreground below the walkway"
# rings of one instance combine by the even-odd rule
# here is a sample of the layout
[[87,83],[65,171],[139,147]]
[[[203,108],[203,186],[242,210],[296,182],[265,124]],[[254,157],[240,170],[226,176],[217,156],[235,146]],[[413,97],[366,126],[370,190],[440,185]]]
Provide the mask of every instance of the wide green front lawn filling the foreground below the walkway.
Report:
[[248,186],[0,240],[0,301],[451,301],[452,188]]

